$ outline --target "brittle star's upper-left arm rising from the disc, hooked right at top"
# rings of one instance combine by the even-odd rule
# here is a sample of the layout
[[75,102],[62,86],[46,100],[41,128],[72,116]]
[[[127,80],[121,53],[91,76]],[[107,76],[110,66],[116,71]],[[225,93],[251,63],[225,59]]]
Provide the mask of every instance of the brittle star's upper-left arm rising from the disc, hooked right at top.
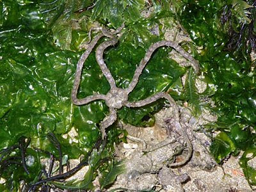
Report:
[[112,88],[116,88],[116,83],[115,83],[115,79],[112,77],[106,63],[104,62],[103,59],[103,52],[106,48],[108,48],[111,45],[115,45],[117,43],[117,39],[113,38],[111,40],[108,40],[106,42],[103,42],[102,44],[99,45],[99,47],[97,47],[96,49],[96,60],[97,63],[100,66],[100,69],[102,70],[102,73],[104,74],[104,76],[106,77],[106,79],[108,80],[111,89]]

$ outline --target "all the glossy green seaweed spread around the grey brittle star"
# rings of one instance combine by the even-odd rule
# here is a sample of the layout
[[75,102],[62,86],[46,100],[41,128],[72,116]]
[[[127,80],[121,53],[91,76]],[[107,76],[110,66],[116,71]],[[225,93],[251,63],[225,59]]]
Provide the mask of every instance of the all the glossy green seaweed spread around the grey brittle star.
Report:
[[[35,166],[29,167],[29,175],[24,175],[20,164],[4,168],[1,177],[7,180],[0,184],[0,190],[17,191],[20,178],[27,183],[36,181],[33,178],[40,172],[39,160],[46,156],[35,148],[58,157],[56,148],[47,140],[49,132],[54,132],[60,141],[66,159],[87,154],[100,138],[99,123],[108,113],[106,104],[99,100],[74,106],[70,100],[76,63],[95,22],[113,29],[125,22],[119,44],[104,53],[120,88],[128,86],[147,48],[163,39],[165,26],[179,22],[186,29],[200,47],[197,52],[190,45],[207,83],[202,95],[210,97],[216,105],[211,109],[218,115],[218,122],[208,127],[209,131],[221,132],[212,138],[212,155],[221,163],[230,154],[243,151],[241,167],[248,182],[255,185],[256,170],[248,166],[255,156],[255,134],[251,130],[256,123],[255,62],[248,54],[255,49],[256,39],[252,4],[253,1],[242,0],[0,1],[0,94],[4,98],[0,100],[0,149],[15,145],[22,137],[30,138],[28,154],[36,160]],[[142,17],[141,12],[148,7],[152,7],[151,15]],[[154,33],[153,29],[156,29]],[[129,100],[172,90],[174,99],[188,101],[198,114],[201,95],[196,92],[195,77],[190,69],[186,86],[182,88],[180,77],[186,68],[168,58],[170,51],[164,47],[154,52]],[[108,81],[102,77],[92,52],[84,63],[78,97],[95,92],[106,94],[108,90]],[[118,119],[132,125],[154,125],[153,115],[163,106],[164,100],[159,100],[143,108],[122,108]],[[72,127],[77,132],[78,143],[69,142],[67,133]],[[115,124],[109,127],[107,150],[100,155],[94,151],[87,176],[71,184],[92,189],[97,169],[106,172],[115,166],[113,143],[125,141],[125,137],[118,138],[122,133],[127,134]],[[252,157],[248,157],[250,153]],[[111,159],[111,163],[102,159]],[[113,182],[115,178],[111,178]],[[110,184],[102,183],[104,187]],[[63,184],[55,184],[65,188]]]

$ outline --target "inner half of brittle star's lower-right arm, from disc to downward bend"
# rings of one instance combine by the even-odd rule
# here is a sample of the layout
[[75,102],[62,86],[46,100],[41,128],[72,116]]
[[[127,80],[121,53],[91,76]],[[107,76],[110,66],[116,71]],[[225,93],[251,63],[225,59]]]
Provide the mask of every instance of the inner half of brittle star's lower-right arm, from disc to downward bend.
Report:
[[175,100],[172,99],[172,97],[170,95],[168,95],[167,93],[156,93],[155,95],[148,97],[147,99],[143,99],[143,100],[138,100],[136,102],[125,102],[124,106],[127,106],[128,108],[139,108],[142,106],[146,106],[147,104],[150,104],[152,102],[155,102],[158,99],[167,99],[169,104],[172,106],[173,110],[174,110],[174,115],[175,115],[175,120],[179,120],[179,109],[175,103]]

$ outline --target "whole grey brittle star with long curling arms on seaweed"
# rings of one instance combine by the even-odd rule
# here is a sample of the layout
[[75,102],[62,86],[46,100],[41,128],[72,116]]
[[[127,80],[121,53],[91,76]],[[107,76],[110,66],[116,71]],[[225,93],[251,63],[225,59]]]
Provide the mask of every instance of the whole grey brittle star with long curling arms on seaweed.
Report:
[[[128,101],[129,93],[134,90],[136,84],[138,83],[139,77],[143,71],[143,68],[147,65],[148,61],[150,60],[152,54],[154,51],[156,51],[157,48],[163,47],[163,46],[168,46],[168,47],[173,47],[176,51],[178,51],[184,58],[189,60],[191,62],[191,66],[194,68],[195,72],[199,72],[199,67],[198,67],[198,61],[196,61],[188,52],[184,51],[182,47],[180,47],[176,42],[172,41],[167,41],[167,40],[162,40],[159,42],[156,42],[152,44],[147,52],[145,53],[144,58],[140,61],[139,66],[136,68],[134,72],[134,76],[132,78],[131,83],[129,84],[128,88],[118,88],[116,87],[115,79],[111,75],[108,67],[106,66],[106,63],[104,62],[103,59],[103,52],[106,48],[109,46],[115,45],[118,40],[116,38],[116,34],[120,33],[120,31],[124,28],[124,24],[116,29],[114,32],[108,31],[108,29],[101,28],[101,33],[99,35],[95,36],[95,38],[88,44],[88,49],[83,53],[81,58],[79,59],[77,63],[77,69],[76,69],[76,75],[75,75],[75,81],[74,81],[74,86],[72,88],[72,93],[71,93],[71,99],[72,102],[77,105],[83,105],[83,104],[88,104],[89,102],[92,102],[93,100],[105,100],[106,105],[109,108],[109,115],[107,115],[102,122],[100,122],[100,131],[102,132],[102,138],[106,136],[105,129],[112,125],[115,120],[116,120],[116,109],[120,109],[123,106],[126,106],[128,108],[139,108],[141,106],[147,106],[148,104],[155,102],[158,99],[164,98],[167,99],[169,104],[173,107],[175,113],[173,119],[175,122],[179,122],[179,109],[177,108],[177,105],[175,104],[175,100],[172,99],[172,97],[168,93],[164,92],[159,92],[156,93],[155,95],[148,97],[147,99],[143,100],[138,100],[136,102],[130,102]],[[83,99],[77,99],[77,91],[79,88],[79,84],[81,81],[81,72],[83,68],[83,63],[84,61],[88,58],[90,53],[92,52],[93,48],[97,44],[100,38],[103,36],[107,36],[110,38],[110,40],[103,42],[100,44],[95,52],[96,55],[96,60],[97,63],[99,64],[100,69],[102,70],[102,73],[108,80],[108,83],[110,84],[110,90],[106,95],[102,94],[95,94],[95,95],[90,95],[88,97],[85,97]],[[184,139],[188,143],[189,146],[191,146],[190,140],[188,138],[188,135],[184,131],[180,131],[182,133],[182,136],[184,136]],[[183,162],[183,161],[182,161]],[[179,164],[175,164],[173,166],[176,166]]]

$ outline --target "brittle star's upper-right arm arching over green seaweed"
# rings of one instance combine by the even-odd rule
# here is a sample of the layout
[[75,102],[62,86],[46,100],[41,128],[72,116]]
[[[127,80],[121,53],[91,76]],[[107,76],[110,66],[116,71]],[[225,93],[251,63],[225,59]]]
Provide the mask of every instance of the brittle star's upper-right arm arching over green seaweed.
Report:
[[132,81],[129,84],[129,87],[127,88],[128,93],[132,92],[132,90],[135,88],[136,84],[138,83],[141,72],[142,72],[143,68],[145,68],[145,66],[147,65],[153,52],[156,51],[157,48],[163,47],[163,46],[173,47],[182,56],[184,56],[184,58],[186,58],[187,60],[189,60],[191,62],[191,66],[194,68],[196,74],[199,72],[198,61],[196,61],[188,52],[186,52],[184,49],[182,49],[182,47],[180,47],[179,44],[177,44],[176,42],[172,42],[172,41],[162,40],[162,41],[152,44],[148,48],[148,51],[146,52],[145,57],[140,61],[140,65],[136,68],[136,70],[134,72]]

